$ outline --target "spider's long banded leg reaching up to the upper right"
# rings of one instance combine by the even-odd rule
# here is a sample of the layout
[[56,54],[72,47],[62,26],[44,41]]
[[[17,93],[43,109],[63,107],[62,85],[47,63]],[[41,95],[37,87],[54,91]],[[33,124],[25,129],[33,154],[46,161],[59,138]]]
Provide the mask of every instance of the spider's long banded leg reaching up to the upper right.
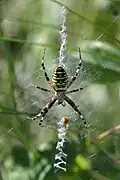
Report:
[[79,48],[79,59],[80,59],[80,61],[79,61],[78,67],[76,69],[76,72],[75,72],[74,76],[72,77],[71,81],[69,82],[67,88],[69,88],[72,85],[72,83],[76,80],[76,78],[77,78],[77,76],[79,74],[79,71],[80,71],[80,67],[81,67],[81,64],[82,64],[80,48]]

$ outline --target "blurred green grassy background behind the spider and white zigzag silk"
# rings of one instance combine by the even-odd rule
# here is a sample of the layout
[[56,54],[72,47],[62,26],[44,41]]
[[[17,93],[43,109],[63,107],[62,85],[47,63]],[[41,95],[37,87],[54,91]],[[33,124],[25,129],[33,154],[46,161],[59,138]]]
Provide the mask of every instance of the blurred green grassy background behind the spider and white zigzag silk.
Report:
[[[81,48],[82,67],[71,89],[87,87],[70,97],[89,124],[86,141],[80,136],[81,119],[69,105],[54,106],[45,128],[26,119],[52,96],[30,84],[48,87],[40,67],[44,48],[50,77],[58,65],[63,5],[69,78]],[[1,0],[0,32],[0,180],[119,180],[120,1]],[[56,126],[63,116],[70,119],[67,172],[54,173]],[[114,127],[118,130],[110,131]]]

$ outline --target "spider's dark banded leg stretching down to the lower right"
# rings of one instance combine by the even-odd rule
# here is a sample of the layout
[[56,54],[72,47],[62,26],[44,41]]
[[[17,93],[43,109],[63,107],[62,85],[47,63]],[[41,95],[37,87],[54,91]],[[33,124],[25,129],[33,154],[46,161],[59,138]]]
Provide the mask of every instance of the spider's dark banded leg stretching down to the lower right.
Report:
[[84,121],[84,125],[87,129],[87,122],[82,113],[79,111],[78,106],[76,106],[76,104],[68,96],[65,96],[65,101],[80,115],[80,118]]

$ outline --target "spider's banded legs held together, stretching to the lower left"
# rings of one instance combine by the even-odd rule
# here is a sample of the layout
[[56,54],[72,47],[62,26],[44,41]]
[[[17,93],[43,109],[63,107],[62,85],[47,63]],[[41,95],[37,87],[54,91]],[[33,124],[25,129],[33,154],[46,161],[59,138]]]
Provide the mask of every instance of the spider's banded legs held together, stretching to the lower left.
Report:
[[44,119],[44,116],[47,114],[47,112],[51,109],[51,107],[53,106],[53,104],[56,102],[57,100],[57,97],[54,96],[51,101],[49,103],[46,104],[46,106],[40,111],[40,113],[38,113],[36,116],[30,118],[28,117],[28,119],[30,120],[36,120],[37,118],[41,117],[41,120],[39,122],[39,125],[41,126],[42,125],[42,122],[43,122],[43,119]]

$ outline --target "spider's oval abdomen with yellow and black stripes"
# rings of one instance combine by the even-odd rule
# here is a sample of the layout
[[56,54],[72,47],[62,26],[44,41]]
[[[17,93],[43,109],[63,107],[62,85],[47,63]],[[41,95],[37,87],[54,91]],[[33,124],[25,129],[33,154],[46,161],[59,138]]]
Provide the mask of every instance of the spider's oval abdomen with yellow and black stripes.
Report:
[[53,75],[52,75],[52,81],[56,84],[57,88],[65,88],[68,83],[68,76],[65,72],[64,68],[61,66],[58,66]]

